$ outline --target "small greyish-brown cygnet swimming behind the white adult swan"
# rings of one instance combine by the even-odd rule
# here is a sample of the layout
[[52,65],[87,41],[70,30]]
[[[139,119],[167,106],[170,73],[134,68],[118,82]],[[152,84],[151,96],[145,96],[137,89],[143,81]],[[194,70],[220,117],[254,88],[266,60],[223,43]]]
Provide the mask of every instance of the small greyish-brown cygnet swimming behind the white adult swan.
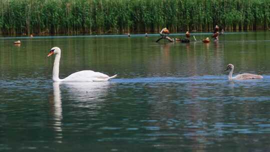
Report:
[[234,68],[234,66],[232,64],[228,64],[227,65],[227,68],[224,70],[224,71],[226,71],[226,70],[229,69],[229,75],[228,75],[228,78],[229,79],[244,80],[244,79],[259,79],[259,78],[263,78],[261,75],[250,74],[250,73],[242,73],[242,74],[238,74],[238,75],[232,77],[233,68]]

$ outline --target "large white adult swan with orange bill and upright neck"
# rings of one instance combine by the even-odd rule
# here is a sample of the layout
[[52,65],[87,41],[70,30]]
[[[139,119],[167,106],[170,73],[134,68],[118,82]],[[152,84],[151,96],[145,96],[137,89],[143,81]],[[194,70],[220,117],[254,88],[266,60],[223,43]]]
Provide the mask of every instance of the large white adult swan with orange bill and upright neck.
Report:
[[47,57],[52,54],[55,54],[53,70],[52,70],[52,80],[55,82],[106,81],[117,76],[117,74],[115,74],[109,77],[108,75],[100,73],[100,72],[95,72],[92,70],[82,70],[82,71],[72,73],[63,79],[60,79],[59,78],[59,62],[60,62],[60,57],[61,57],[61,49],[59,47],[52,47]]

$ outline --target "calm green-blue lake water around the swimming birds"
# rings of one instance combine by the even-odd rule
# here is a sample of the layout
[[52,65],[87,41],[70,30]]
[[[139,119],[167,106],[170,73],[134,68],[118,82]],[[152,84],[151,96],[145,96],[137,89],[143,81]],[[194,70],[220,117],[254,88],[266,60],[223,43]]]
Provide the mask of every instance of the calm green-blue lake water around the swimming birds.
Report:
[[[269,151],[270,32],[157,38],[0,37],[0,151]],[[118,76],[53,83],[53,46],[60,78]],[[264,78],[228,80],[228,63]]]

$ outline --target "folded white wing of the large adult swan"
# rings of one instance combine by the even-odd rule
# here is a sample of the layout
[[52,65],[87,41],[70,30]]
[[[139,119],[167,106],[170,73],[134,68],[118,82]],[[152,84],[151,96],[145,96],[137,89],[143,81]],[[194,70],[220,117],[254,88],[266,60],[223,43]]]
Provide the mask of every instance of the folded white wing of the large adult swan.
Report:
[[109,78],[108,75],[92,70],[82,70],[70,74],[63,81],[103,81]]

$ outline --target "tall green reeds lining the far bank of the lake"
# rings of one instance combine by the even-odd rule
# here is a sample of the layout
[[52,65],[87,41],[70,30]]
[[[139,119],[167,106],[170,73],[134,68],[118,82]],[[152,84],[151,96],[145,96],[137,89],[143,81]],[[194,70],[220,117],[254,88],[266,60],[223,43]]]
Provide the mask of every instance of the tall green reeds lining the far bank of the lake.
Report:
[[268,29],[269,0],[0,0],[0,33]]

